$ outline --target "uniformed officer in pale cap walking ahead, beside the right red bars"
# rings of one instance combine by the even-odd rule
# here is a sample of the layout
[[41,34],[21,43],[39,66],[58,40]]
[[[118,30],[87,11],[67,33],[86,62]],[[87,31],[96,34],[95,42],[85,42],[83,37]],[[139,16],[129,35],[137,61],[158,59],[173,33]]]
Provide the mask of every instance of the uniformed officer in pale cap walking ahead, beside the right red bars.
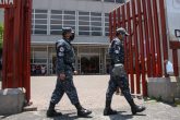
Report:
[[104,116],[117,113],[117,111],[112,110],[110,107],[112,95],[116,92],[117,87],[121,88],[122,94],[124,95],[127,101],[131,106],[131,111],[133,115],[145,110],[145,107],[141,107],[134,104],[134,100],[130,94],[128,75],[123,67],[124,64],[123,40],[124,40],[124,37],[128,35],[129,34],[127,33],[124,28],[122,27],[117,28],[116,38],[111,41],[111,45],[109,48],[112,70],[110,73],[110,81],[109,81],[108,89],[106,93],[106,106],[104,109]]

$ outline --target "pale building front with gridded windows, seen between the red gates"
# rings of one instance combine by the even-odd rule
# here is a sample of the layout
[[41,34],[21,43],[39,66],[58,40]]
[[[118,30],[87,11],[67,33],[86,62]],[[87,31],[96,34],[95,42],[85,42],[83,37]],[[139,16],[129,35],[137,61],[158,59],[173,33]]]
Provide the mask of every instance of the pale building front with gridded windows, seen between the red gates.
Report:
[[75,32],[72,45],[79,73],[108,73],[108,13],[123,2],[124,0],[34,0],[32,74],[55,74],[55,43],[62,37],[62,27],[72,27]]

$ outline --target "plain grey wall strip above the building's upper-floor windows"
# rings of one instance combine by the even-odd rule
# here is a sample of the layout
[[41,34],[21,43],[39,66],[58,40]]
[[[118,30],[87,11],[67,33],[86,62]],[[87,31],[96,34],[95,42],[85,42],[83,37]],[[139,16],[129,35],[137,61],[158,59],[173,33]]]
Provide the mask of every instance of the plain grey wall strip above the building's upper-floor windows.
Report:
[[113,8],[119,7],[118,3],[91,1],[91,0],[34,0],[34,9],[49,10],[76,10],[92,12],[109,12]]

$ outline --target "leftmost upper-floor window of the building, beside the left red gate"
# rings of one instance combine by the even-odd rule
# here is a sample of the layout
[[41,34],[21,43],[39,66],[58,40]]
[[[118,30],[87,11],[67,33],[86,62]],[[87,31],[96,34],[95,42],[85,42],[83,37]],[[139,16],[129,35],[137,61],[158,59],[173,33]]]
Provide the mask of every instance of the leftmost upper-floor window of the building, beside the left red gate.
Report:
[[33,10],[32,33],[47,35],[47,10]]

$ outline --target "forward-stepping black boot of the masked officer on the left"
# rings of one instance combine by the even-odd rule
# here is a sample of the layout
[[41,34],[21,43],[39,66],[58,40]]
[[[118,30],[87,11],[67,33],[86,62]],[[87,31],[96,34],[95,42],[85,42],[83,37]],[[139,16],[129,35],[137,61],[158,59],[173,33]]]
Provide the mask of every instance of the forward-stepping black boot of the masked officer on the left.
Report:
[[91,110],[87,110],[87,109],[83,108],[83,107],[80,105],[80,103],[75,104],[74,106],[75,106],[75,108],[76,108],[76,110],[77,110],[77,116],[79,116],[79,117],[86,117],[86,116],[88,116],[88,115],[92,113]]

